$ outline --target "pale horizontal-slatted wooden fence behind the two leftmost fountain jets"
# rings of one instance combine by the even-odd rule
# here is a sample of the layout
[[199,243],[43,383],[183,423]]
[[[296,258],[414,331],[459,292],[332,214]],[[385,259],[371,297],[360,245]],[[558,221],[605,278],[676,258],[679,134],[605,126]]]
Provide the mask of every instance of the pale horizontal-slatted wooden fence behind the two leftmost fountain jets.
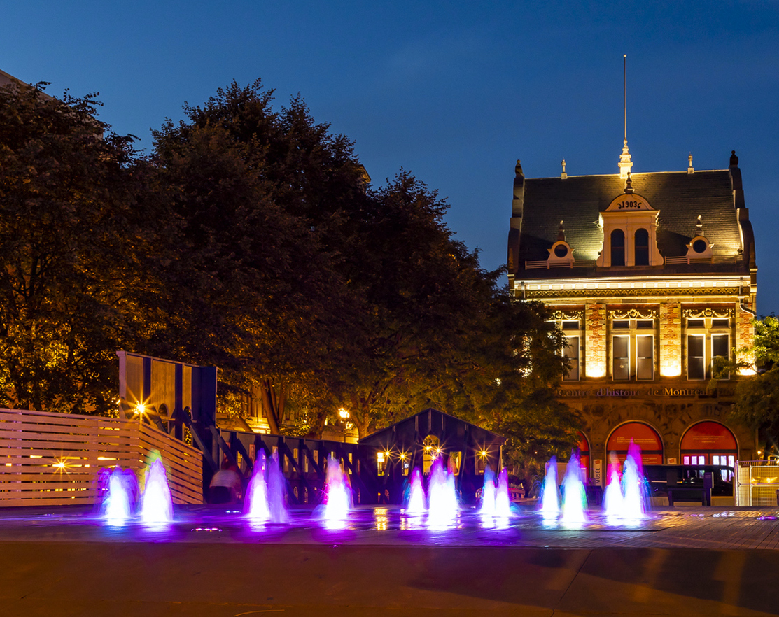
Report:
[[101,467],[132,469],[143,485],[154,451],[174,503],[202,503],[200,451],[138,419],[0,409],[0,506],[97,503]]

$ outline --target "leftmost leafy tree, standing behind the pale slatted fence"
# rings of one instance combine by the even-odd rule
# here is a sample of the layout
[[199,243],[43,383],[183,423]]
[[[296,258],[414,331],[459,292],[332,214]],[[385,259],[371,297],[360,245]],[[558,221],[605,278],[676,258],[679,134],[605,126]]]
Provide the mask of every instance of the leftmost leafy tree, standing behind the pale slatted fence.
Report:
[[133,138],[44,86],[0,89],[0,404],[108,413],[139,326]]

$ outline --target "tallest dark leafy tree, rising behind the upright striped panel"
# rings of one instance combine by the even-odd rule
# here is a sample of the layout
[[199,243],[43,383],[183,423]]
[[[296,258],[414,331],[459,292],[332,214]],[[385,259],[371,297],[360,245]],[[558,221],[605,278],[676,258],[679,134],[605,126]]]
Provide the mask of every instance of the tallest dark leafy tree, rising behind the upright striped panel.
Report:
[[360,304],[335,247],[343,204],[365,190],[351,142],[299,97],[275,113],[272,94],[232,83],[154,132],[150,199],[172,231],[150,310],[167,323],[153,349],[219,365],[223,389],[258,393],[278,433],[292,393],[323,397],[323,365]]

